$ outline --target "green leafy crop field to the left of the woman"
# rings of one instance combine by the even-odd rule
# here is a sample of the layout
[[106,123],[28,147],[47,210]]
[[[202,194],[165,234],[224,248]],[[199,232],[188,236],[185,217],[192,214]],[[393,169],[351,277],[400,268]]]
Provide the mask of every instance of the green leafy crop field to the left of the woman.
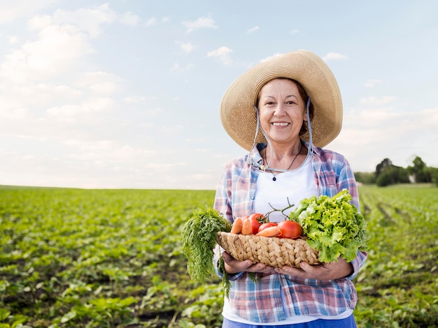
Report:
[[0,189],[0,322],[143,327],[155,320],[161,327],[197,297],[179,230],[212,197],[211,191]]

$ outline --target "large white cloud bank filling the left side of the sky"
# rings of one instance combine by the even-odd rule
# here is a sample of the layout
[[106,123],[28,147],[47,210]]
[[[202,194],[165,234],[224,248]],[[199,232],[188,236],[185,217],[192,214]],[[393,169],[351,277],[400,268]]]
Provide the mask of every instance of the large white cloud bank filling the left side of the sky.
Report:
[[[164,107],[144,108],[152,97],[135,96],[144,89],[134,96],[122,94],[127,81],[104,71],[106,59],[89,60],[96,51],[94,38],[118,22],[134,25],[139,19],[108,6],[56,10],[28,20],[29,34],[9,38],[12,50],[3,50],[0,58],[0,155],[8,158],[1,165],[3,183],[111,188],[120,186],[121,178],[144,187],[148,182],[139,182],[139,172],[148,181],[156,178],[148,165],[161,174],[174,171],[178,150],[160,145],[155,151],[144,144],[157,144],[155,131],[164,140],[180,137],[184,126],[157,126],[151,120],[163,117]],[[185,43],[181,49],[190,53],[194,47]],[[176,67],[185,71],[192,64]],[[138,117],[146,122],[141,125]],[[127,144],[134,136],[141,140],[139,147]]]

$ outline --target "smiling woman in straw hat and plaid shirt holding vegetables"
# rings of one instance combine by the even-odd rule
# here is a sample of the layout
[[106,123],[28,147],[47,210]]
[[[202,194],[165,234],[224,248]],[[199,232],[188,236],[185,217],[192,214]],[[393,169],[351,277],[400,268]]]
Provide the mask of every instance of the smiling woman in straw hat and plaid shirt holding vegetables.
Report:
[[[322,148],[339,134],[342,103],[332,72],[315,54],[299,50],[251,68],[229,87],[220,114],[227,133],[249,151],[227,163],[216,192],[214,207],[229,221],[344,188],[360,208],[348,161]],[[222,327],[356,327],[351,280],[366,253],[299,269],[238,261],[222,249],[216,260],[220,253],[232,283]],[[249,272],[259,273],[257,283]]]

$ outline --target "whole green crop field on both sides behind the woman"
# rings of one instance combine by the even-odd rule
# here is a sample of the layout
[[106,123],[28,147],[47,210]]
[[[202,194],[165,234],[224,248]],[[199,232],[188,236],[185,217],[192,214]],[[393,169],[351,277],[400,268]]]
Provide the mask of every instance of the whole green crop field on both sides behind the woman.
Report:
[[[0,187],[1,327],[220,327],[180,230],[213,191]],[[359,327],[438,327],[438,188],[360,187]]]

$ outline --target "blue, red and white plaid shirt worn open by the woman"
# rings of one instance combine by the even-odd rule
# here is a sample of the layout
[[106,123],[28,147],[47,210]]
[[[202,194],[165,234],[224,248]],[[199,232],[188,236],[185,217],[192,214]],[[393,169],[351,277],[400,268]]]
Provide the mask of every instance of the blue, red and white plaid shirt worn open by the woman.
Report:
[[[214,207],[231,222],[238,216],[254,213],[260,171],[250,162],[262,164],[258,150],[264,147],[266,144],[257,144],[257,149],[230,161],[225,167]],[[318,147],[313,150],[311,163],[318,195],[333,196],[346,188],[360,209],[355,178],[346,158]],[[218,256],[216,248],[216,263]],[[229,304],[236,315],[251,322],[277,322],[294,315],[339,315],[355,308],[357,296],[351,280],[357,276],[366,258],[367,253],[359,251],[351,262],[353,274],[331,281],[268,274],[254,283],[245,272],[230,275]],[[218,271],[217,274],[220,276]]]

